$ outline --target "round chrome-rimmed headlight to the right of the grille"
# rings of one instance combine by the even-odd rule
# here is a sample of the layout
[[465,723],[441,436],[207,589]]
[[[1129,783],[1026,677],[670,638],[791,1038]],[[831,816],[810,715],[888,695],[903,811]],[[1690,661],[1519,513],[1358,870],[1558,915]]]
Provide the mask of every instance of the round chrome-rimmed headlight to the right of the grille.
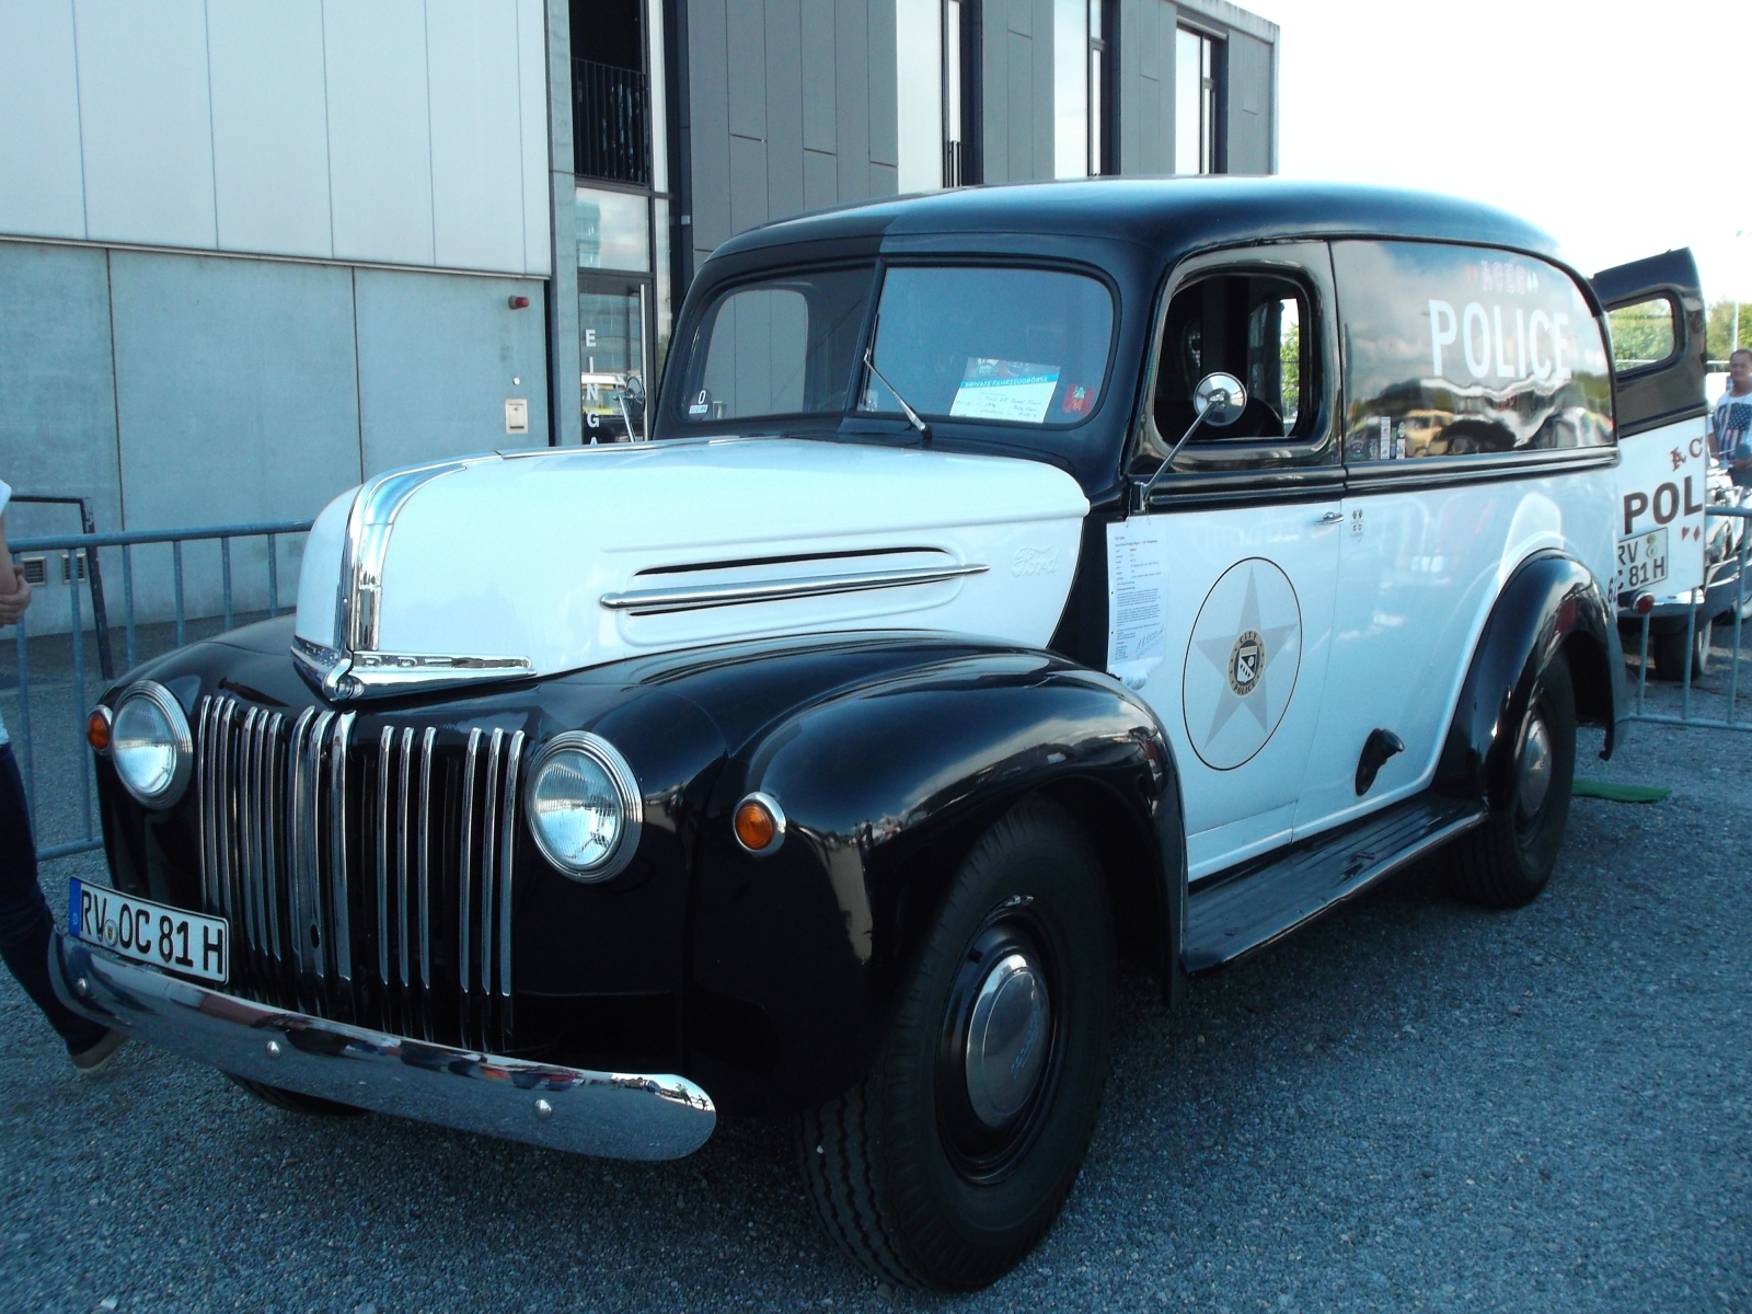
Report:
[[645,809],[632,767],[596,734],[548,739],[524,787],[536,846],[576,881],[606,881],[632,860]]

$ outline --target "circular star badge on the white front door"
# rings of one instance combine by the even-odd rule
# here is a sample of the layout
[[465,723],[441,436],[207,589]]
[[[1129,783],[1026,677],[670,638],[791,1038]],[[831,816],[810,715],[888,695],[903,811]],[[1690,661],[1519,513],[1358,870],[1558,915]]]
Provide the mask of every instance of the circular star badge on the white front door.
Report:
[[1289,708],[1302,666],[1302,606],[1289,576],[1263,557],[1237,561],[1198,608],[1186,645],[1181,711],[1198,760],[1233,771]]

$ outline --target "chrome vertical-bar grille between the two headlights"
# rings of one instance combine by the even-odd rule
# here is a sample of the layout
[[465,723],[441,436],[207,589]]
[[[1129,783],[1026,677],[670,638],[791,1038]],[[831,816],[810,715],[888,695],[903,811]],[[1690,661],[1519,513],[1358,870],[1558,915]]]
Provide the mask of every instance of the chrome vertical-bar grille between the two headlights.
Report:
[[524,732],[201,699],[201,899],[231,988],[279,1007],[505,1049]]

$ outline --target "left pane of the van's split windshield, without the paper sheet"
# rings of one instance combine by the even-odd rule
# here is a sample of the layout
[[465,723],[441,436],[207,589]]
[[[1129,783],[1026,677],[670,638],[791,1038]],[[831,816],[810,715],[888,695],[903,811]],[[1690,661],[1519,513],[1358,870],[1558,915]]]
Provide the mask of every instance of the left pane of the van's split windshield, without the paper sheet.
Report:
[[809,270],[720,293],[694,338],[678,419],[844,412],[872,277],[869,265]]

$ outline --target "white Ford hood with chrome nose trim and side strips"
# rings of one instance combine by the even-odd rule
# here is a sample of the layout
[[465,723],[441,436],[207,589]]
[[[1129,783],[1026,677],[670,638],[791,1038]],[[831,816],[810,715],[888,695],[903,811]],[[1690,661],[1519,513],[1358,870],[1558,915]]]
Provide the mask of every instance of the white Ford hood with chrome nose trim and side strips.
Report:
[[1035,461],[783,438],[461,457],[317,517],[293,653],[333,699],[757,634],[1042,646],[1088,501]]

